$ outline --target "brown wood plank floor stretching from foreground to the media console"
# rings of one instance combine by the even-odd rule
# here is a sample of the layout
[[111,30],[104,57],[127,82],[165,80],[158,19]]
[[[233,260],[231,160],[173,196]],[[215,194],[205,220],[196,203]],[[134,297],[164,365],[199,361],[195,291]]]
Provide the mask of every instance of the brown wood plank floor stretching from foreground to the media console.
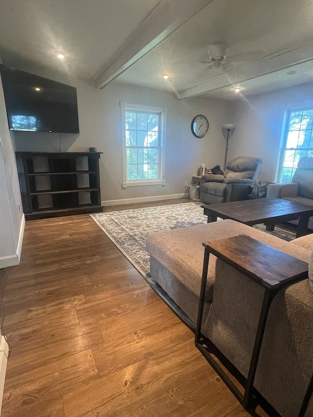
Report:
[[2,416],[248,416],[89,215],[27,221],[21,263],[0,278]]

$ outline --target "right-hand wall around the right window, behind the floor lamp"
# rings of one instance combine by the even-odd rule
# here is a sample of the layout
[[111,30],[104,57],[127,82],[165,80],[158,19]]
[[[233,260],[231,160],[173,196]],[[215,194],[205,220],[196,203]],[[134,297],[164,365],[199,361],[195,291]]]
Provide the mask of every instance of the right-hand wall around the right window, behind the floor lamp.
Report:
[[313,83],[232,102],[233,137],[228,155],[262,158],[259,178],[275,181],[285,109],[313,105]]

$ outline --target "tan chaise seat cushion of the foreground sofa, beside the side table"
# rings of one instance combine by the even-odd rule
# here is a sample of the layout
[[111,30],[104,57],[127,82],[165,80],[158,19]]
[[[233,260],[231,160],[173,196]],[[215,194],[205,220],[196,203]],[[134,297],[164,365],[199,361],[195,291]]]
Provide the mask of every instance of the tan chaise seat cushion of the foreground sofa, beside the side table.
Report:
[[[199,296],[204,255],[202,242],[230,238],[242,233],[308,262],[310,251],[307,249],[291,245],[276,236],[228,219],[153,233],[147,238],[146,250],[156,261],[175,275],[183,285]],[[214,256],[210,256],[207,280],[209,300],[212,299],[213,294],[215,259]]]

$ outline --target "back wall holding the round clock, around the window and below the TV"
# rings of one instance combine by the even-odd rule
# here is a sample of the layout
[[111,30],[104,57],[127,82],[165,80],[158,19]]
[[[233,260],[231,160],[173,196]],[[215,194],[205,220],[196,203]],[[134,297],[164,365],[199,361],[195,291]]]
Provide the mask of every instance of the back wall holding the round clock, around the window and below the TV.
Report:
[[[230,102],[196,97],[179,101],[165,91],[112,83],[97,90],[86,80],[68,78],[61,74],[21,68],[37,75],[64,82],[77,88],[79,135],[61,135],[62,151],[89,151],[96,147],[103,152],[100,159],[102,201],[175,196],[184,193],[184,182],[191,181],[201,163],[211,168],[223,165],[225,140],[221,128],[228,121]],[[165,186],[139,186],[122,189],[122,142],[120,102],[167,107],[165,155]],[[209,131],[201,139],[190,129],[197,114],[209,120]],[[15,132],[16,150],[59,150],[58,133]]]

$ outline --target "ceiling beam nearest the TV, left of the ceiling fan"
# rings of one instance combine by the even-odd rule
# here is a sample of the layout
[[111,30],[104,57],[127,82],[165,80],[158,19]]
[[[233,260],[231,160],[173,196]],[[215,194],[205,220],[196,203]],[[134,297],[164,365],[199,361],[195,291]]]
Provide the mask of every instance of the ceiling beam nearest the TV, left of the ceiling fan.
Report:
[[92,77],[104,88],[214,0],[161,0]]

